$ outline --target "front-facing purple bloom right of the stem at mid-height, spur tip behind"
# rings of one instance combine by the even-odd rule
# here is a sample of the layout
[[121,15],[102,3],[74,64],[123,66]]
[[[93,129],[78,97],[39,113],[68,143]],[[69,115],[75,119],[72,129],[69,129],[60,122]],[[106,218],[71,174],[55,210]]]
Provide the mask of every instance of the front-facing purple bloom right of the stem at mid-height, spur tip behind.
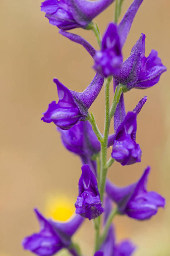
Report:
[[113,140],[112,158],[122,165],[129,165],[141,161],[142,151],[136,143],[137,115],[146,103],[144,96],[136,105],[133,112],[128,112],[124,108],[124,101],[119,105],[118,111],[114,115],[114,130],[116,131]]

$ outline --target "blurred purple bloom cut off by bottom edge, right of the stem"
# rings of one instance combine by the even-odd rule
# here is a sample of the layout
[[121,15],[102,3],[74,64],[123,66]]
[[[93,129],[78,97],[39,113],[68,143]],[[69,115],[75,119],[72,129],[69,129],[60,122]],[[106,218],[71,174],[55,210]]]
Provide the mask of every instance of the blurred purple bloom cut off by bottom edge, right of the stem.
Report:
[[[105,198],[104,224],[107,221],[109,213],[112,210],[111,202],[108,197]],[[135,246],[129,240],[123,240],[115,243],[114,226],[111,224],[104,242],[100,246],[100,250],[94,256],[130,256],[135,250]]]

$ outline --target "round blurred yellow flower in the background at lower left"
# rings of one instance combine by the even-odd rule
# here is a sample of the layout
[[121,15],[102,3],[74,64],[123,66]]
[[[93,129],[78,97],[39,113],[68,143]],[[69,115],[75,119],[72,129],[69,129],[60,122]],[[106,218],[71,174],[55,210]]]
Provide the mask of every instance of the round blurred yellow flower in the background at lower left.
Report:
[[46,198],[45,212],[50,218],[66,221],[75,213],[74,201],[66,195],[49,194]]

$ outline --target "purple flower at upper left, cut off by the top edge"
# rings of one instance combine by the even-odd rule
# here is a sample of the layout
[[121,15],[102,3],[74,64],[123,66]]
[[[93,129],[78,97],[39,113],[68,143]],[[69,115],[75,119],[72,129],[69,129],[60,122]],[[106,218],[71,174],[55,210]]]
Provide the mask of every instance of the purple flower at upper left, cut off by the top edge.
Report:
[[49,22],[69,30],[87,28],[98,14],[103,12],[114,0],[46,0],[41,4],[41,11],[46,13]]

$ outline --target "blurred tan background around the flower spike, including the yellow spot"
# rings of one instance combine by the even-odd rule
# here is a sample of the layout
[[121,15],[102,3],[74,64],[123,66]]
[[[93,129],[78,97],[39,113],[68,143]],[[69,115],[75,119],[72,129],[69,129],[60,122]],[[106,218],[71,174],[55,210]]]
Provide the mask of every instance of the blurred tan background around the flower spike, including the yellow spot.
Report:
[[[132,0],[124,1],[121,17],[131,3]],[[22,249],[21,241],[39,229],[33,208],[38,207],[48,217],[66,220],[75,210],[78,193],[80,160],[62,146],[55,125],[41,121],[41,113],[52,100],[58,99],[53,78],[57,77],[70,89],[83,91],[95,74],[91,68],[93,61],[83,47],[62,37],[58,28],[48,23],[40,5],[38,0],[0,1],[0,256],[31,255]],[[123,49],[124,59],[140,33],[145,33],[146,56],[151,49],[156,49],[169,70],[169,8],[168,0],[143,1]],[[114,4],[96,18],[102,34],[113,13]],[[80,34],[98,48],[91,31],[75,29],[73,33]],[[138,116],[137,130],[142,162],[125,167],[114,163],[108,175],[114,183],[124,186],[135,182],[143,169],[151,165],[148,190],[163,195],[167,203],[165,209],[159,209],[149,221],[116,216],[116,239],[129,237],[137,244],[135,256],[169,256],[168,72],[163,73],[153,88],[126,93],[126,110],[132,110],[145,95],[148,101]],[[103,90],[90,110],[103,130]],[[89,256],[93,251],[93,239],[93,223],[86,220],[74,240],[80,242],[84,254]],[[67,254],[63,251],[58,255]]]

